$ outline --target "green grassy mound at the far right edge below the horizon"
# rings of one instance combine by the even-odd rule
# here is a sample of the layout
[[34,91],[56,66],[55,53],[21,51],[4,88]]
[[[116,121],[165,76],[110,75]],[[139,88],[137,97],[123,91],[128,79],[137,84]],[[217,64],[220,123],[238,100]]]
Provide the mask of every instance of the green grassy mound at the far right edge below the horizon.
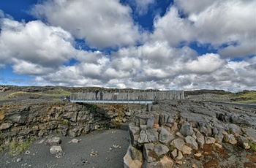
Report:
[[230,100],[241,103],[256,103],[256,91],[238,92],[237,96]]

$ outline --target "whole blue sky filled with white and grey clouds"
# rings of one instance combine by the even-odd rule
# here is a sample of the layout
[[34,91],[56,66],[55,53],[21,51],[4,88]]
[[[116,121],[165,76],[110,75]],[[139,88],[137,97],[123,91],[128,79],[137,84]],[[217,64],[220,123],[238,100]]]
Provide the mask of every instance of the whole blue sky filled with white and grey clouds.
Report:
[[256,0],[1,0],[0,85],[256,90]]

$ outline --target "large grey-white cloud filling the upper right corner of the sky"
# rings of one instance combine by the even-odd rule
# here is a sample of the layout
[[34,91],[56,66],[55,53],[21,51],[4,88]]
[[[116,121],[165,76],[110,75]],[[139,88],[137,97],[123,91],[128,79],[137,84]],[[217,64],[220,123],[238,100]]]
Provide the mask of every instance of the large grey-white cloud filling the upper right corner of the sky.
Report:
[[255,1],[175,2],[163,17],[155,18],[152,39],[172,46],[211,44],[225,57],[255,55]]

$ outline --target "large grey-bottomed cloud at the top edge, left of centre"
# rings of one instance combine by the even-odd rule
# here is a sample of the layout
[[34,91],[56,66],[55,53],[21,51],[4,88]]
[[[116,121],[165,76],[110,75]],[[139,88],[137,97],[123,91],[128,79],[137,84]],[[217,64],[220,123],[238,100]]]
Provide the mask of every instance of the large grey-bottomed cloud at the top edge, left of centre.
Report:
[[53,26],[61,26],[92,47],[135,45],[140,40],[139,28],[133,23],[132,9],[118,0],[58,1],[37,4],[31,13]]

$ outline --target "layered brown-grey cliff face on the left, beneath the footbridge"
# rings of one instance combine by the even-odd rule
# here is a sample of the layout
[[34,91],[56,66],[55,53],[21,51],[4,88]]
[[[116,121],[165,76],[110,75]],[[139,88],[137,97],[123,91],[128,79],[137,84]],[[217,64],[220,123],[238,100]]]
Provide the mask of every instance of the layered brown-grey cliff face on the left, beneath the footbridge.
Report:
[[146,108],[138,104],[133,107],[67,102],[1,105],[0,147],[12,140],[45,137],[53,132],[78,137],[97,129],[116,128]]

